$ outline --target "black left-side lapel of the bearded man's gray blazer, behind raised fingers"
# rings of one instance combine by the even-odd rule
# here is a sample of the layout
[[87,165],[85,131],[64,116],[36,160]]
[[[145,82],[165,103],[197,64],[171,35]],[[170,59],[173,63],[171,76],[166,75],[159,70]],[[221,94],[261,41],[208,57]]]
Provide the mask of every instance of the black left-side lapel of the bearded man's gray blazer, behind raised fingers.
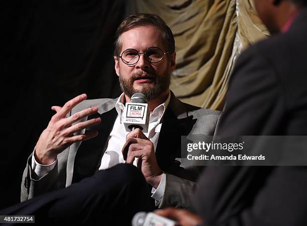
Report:
[[94,114],[88,117],[88,120],[93,118],[101,118],[101,123],[88,128],[86,132],[96,130],[98,136],[87,141],[83,141],[76,153],[74,161],[74,171],[72,183],[78,182],[81,179],[94,174],[98,162],[102,156],[105,143],[113,128],[117,111],[115,107],[103,114]]

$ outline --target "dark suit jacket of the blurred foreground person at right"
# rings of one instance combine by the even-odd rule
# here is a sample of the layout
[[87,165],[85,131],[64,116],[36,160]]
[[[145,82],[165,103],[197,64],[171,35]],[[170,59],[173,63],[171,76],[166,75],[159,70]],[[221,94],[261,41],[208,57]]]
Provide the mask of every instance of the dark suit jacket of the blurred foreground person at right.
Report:
[[[305,9],[239,57],[218,134],[307,135],[306,84]],[[205,225],[307,225],[306,167],[207,167],[199,188]]]

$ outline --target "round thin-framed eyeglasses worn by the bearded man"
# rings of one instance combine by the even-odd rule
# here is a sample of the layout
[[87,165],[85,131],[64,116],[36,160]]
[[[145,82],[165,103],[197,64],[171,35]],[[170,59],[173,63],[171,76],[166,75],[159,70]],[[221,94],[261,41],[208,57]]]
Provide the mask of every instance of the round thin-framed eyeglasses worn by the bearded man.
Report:
[[158,63],[162,61],[165,54],[169,53],[170,52],[163,52],[159,47],[149,47],[144,53],[137,52],[135,49],[126,49],[119,58],[121,58],[122,62],[125,64],[133,65],[138,62],[140,55],[144,54],[145,59],[150,63]]

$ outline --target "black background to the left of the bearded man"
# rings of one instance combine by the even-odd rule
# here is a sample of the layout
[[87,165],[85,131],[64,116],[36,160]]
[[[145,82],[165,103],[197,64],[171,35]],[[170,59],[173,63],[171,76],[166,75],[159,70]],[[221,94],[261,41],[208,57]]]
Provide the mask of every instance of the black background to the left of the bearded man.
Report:
[[54,111],[74,96],[115,98],[113,38],[127,1],[7,1],[1,7],[0,208],[20,201],[27,158]]

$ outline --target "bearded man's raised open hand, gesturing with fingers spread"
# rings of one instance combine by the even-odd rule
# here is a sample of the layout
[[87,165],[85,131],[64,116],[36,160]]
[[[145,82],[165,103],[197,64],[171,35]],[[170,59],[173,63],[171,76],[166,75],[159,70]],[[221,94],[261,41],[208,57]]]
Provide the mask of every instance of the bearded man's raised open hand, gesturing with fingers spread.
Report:
[[[56,114],[51,118],[48,127],[41,134],[35,147],[34,154],[38,163],[49,165],[57,159],[59,153],[64,151],[73,143],[88,140],[98,135],[97,131],[91,131],[76,136],[74,135],[74,133],[80,130],[101,122],[100,118],[95,118],[85,122],[76,123],[85,117],[95,114],[98,111],[97,107],[89,107],[66,118],[66,115],[71,111],[71,109],[86,98],[86,94],[81,94],[67,101],[63,107],[51,107],[51,109],[56,111]],[[74,123],[76,124],[72,125]]]

